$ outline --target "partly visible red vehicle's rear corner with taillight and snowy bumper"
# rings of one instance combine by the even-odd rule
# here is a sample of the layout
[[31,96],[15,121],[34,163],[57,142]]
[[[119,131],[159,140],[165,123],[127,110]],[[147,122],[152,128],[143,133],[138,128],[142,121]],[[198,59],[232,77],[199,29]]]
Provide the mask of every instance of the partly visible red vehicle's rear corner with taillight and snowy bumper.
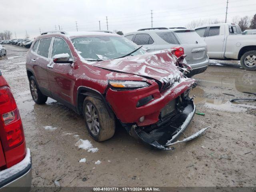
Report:
[[31,156],[26,149],[23,126],[10,87],[0,72],[0,191],[31,186]]

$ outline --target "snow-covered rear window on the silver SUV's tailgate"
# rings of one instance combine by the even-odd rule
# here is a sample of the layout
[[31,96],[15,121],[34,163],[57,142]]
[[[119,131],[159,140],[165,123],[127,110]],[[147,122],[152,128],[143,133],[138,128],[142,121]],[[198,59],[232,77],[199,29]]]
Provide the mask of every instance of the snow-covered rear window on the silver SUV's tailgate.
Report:
[[204,40],[195,31],[177,31],[175,32],[179,38],[180,44],[203,43]]

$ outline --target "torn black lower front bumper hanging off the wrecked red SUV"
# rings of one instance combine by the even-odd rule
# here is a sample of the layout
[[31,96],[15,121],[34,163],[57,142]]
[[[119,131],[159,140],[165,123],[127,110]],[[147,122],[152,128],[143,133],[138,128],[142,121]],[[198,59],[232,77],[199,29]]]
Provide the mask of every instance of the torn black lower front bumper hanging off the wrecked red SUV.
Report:
[[176,141],[192,120],[196,110],[194,96],[188,97],[189,92],[190,90],[187,90],[178,98],[170,101],[161,110],[160,120],[156,124],[141,127],[133,125],[129,131],[130,134],[160,150],[173,150],[174,147],[170,147],[173,144],[186,142],[201,135],[209,127],[201,129],[182,141]]

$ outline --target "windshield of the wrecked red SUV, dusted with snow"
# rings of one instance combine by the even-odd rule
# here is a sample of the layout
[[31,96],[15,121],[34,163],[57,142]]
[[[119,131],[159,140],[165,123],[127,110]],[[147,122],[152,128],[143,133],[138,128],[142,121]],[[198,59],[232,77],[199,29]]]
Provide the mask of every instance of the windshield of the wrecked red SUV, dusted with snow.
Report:
[[[78,54],[85,60],[109,60],[119,58],[136,50],[138,45],[124,37],[94,36],[73,38],[72,43]],[[146,53],[142,49],[131,55]]]

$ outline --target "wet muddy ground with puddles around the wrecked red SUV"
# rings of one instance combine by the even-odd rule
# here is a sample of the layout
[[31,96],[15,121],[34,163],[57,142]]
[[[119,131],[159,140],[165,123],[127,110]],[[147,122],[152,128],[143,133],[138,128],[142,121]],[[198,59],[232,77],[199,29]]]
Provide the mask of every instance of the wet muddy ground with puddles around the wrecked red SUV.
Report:
[[[252,98],[242,92],[256,92],[256,71],[244,70],[238,61],[211,60],[206,72],[194,76],[198,86],[192,94],[205,116],[195,114],[185,134],[211,128],[173,151],[158,151],[121,127],[112,139],[95,142],[72,110],[52,99],[35,104],[25,69],[28,49],[5,47],[0,70],[14,93],[32,152],[32,186],[256,186],[256,102],[229,102]],[[80,138],[98,152],[79,149]],[[82,158],[86,162],[79,162]]]

